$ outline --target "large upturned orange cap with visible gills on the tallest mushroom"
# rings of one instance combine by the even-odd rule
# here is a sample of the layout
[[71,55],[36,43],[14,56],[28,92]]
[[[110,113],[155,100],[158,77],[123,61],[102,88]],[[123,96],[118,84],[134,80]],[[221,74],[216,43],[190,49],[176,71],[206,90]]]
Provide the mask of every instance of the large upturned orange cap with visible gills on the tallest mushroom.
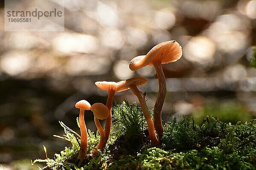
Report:
[[132,71],[145,67],[146,65],[154,65],[154,62],[161,62],[167,64],[175,62],[182,56],[182,49],[180,44],[175,41],[161,42],[155,45],[146,55],[137,56],[131,59],[129,68]]

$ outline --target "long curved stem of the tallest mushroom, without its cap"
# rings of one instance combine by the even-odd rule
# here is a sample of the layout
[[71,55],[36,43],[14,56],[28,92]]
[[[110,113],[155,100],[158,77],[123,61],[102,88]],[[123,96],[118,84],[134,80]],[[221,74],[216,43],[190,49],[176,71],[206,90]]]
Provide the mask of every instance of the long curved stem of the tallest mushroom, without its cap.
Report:
[[166,96],[166,79],[163,73],[163,67],[161,62],[154,62],[154,68],[157,72],[158,78],[158,94],[157,100],[154,105],[154,128],[157,132],[157,137],[160,142],[162,143],[162,136],[163,136],[163,124],[162,124],[162,108],[164,99]]

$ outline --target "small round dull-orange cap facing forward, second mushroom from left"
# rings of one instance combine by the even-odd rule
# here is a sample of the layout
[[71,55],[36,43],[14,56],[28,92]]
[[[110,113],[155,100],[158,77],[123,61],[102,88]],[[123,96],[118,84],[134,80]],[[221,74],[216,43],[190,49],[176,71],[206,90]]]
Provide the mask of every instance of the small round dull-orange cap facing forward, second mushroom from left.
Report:
[[91,111],[93,111],[93,114],[98,119],[106,119],[109,115],[108,107],[103,105],[102,103],[94,103],[91,108]]

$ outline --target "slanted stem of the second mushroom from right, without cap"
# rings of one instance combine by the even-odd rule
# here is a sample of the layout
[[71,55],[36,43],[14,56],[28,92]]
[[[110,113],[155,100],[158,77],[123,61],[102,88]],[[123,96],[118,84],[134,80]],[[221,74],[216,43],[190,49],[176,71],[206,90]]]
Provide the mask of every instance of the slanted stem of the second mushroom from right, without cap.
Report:
[[151,118],[151,116],[148,112],[148,107],[147,107],[146,101],[141,96],[141,92],[139,91],[139,89],[137,88],[136,85],[130,85],[129,88],[135,94],[135,96],[137,96],[137,98],[140,102],[143,115],[145,116],[145,119],[146,119],[147,124],[148,124],[148,133],[149,133],[149,137],[151,139],[151,144],[155,147],[158,147],[159,142],[158,142],[157,136],[154,132],[154,124],[153,124],[152,118]]

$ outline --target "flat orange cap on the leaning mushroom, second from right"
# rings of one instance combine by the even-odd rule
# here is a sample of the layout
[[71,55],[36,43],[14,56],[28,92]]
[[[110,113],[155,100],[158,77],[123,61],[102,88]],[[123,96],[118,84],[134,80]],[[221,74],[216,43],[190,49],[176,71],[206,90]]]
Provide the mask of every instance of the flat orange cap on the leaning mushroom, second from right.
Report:
[[148,82],[147,79],[143,77],[134,77],[131,79],[123,80],[120,82],[117,82],[116,92],[126,91],[129,89],[129,85],[144,85],[146,82]]

